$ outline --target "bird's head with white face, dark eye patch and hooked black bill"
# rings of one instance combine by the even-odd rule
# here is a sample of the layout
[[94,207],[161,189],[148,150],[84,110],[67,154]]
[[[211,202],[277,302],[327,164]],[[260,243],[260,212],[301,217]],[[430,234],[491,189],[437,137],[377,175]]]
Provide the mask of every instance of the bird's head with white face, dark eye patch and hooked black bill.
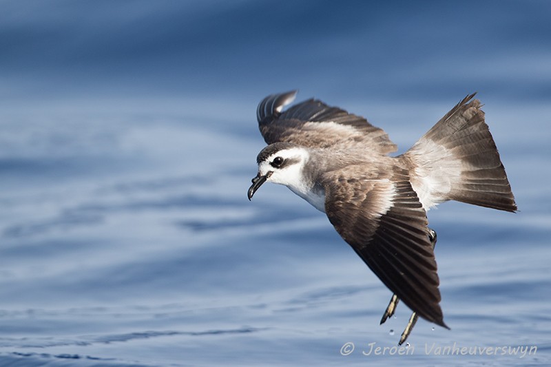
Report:
[[306,190],[302,169],[308,158],[306,149],[292,147],[275,151],[258,162],[258,175],[249,189],[249,200],[264,182],[285,185],[295,192]]

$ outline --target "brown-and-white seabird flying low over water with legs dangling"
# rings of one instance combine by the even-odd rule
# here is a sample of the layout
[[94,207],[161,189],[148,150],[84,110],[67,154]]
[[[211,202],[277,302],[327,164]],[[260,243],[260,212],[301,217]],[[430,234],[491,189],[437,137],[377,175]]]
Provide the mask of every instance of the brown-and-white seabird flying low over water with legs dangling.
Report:
[[326,213],[337,233],[393,292],[381,324],[402,300],[444,328],[427,211],[448,200],[516,212],[517,204],[476,93],[468,94],[404,154],[366,118],[297,90],[271,94],[257,108],[267,146],[258,154],[251,200],[264,182],[285,185]]

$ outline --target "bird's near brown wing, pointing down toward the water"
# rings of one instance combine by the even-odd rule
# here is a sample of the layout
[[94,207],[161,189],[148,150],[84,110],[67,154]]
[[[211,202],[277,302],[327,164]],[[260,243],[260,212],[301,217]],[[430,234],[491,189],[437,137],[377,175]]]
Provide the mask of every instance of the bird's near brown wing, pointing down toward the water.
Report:
[[407,172],[362,178],[349,166],[325,186],[326,213],[342,238],[409,308],[447,327],[426,212]]

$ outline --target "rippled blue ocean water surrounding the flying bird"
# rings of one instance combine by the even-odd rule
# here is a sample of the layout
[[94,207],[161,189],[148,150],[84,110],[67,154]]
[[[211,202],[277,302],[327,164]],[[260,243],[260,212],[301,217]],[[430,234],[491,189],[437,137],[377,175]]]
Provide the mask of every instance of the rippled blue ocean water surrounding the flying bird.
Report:
[[[550,364],[550,12],[3,1],[0,366]],[[450,331],[397,348],[410,311],[379,325],[391,293],[323,213],[247,200],[256,105],[295,88],[400,151],[479,92],[520,211],[428,213]]]

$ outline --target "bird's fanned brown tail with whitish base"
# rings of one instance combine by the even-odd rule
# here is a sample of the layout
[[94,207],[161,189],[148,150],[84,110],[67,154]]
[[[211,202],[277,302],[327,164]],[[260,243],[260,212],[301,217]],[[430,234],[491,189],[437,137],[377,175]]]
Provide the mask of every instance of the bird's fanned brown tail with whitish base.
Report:
[[466,96],[402,156],[425,209],[457,200],[505,211],[517,205],[475,94]]

